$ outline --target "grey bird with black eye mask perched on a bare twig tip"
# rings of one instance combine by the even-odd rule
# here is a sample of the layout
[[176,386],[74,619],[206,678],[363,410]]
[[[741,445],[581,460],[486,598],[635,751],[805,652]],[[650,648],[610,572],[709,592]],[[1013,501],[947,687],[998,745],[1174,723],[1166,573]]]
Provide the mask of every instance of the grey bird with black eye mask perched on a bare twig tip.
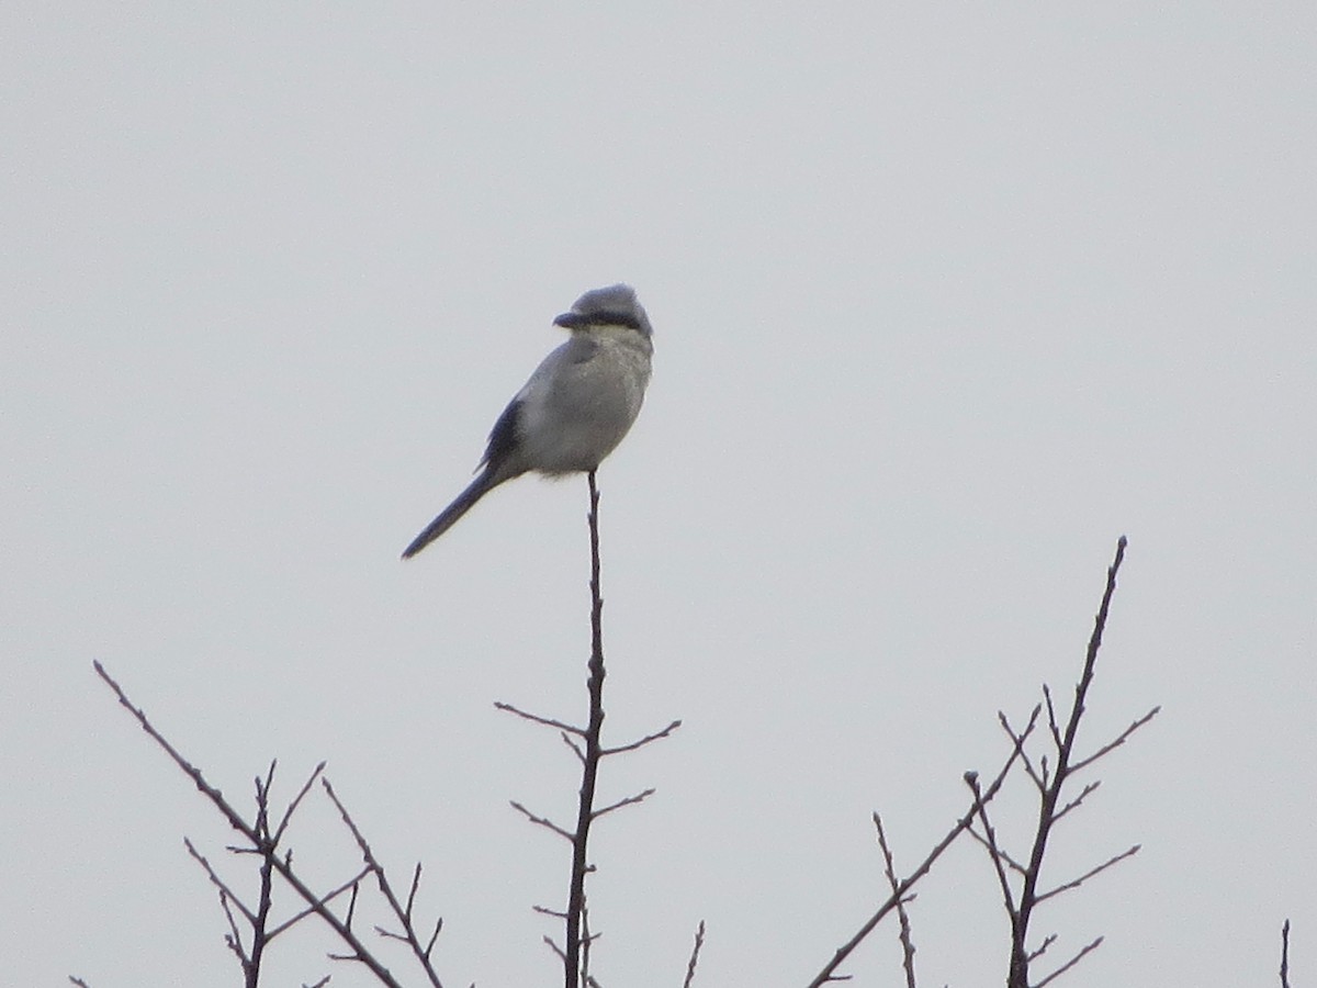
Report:
[[498,485],[536,472],[589,473],[631,429],[653,356],[649,316],[630,285],[593,288],[553,320],[572,335],[494,423],[475,480],[403,549],[411,559]]

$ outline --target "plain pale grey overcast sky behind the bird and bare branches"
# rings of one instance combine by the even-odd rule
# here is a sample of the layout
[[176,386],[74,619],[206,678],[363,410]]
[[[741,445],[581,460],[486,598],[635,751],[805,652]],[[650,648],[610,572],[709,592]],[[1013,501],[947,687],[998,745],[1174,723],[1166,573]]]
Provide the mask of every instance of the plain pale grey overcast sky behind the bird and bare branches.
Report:
[[[507,801],[568,819],[574,763],[493,701],[581,715],[583,481],[398,553],[612,281],[656,366],[601,474],[607,730],[686,725],[607,767],[658,792],[598,831],[601,980],[680,984],[703,918],[701,983],[807,981],[882,894],[869,813],[914,864],[996,711],[1069,692],[1122,532],[1081,747],[1164,713],[1047,876],[1143,851],[1036,930],[1106,934],[1075,988],[1264,984],[1288,916],[1312,980],[1309,4],[0,18],[14,984],[236,979],[180,840],[229,834],[92,659],[234,798],[328,759],[399,879],[425,862],[446,980],[553,983],[565,848]],[[1001,981],[994,883],[965,846],[923,887],[923,983]],[[880,931],[848,970],[898,964]]]

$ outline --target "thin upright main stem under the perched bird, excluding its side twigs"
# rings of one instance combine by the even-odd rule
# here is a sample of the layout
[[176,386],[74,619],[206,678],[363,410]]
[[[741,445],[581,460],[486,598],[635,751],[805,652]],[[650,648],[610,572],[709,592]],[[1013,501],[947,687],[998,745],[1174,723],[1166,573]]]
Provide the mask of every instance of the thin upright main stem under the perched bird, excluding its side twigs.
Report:
[[590,481],[590,723],[585,731],[581,771],[581,801],[572,837],[572,887],[568,893],[566,955],[562,962],[566,988],[577,988],[581,977],[581,923],[585,913],[585,876],[590,869],[587,847],[594,818],[594,786],[599,773],[599,734],[603,728],[603,597],[599,593],[599,487],[594,470]]

